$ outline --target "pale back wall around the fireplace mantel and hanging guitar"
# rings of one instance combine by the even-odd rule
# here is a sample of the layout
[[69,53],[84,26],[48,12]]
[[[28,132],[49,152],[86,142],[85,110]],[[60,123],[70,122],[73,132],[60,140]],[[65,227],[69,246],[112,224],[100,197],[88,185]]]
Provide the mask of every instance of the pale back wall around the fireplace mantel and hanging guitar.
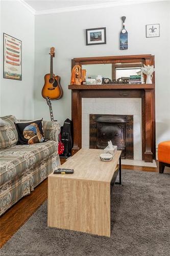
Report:
[[[54,116],[63,123],[71,116],[71,91],[68,90],[71,58],[128,54],[155,55],[156,68],[156,143],[170,139],[170,31],[169,2],[119,6],[86,11],[38,15],[35,18],[35,117],[50,119],[41,97],[43,76],[49,73],[51,46],[56,47],[54,72],[61,76],[63,98],[52,102]],[[121,16],[126,16],[129,49],[119,50]],[[146,38],[146,24],[160,24],[160,37]],[[106,27],[107,44],[85,45],[85,29]]]

